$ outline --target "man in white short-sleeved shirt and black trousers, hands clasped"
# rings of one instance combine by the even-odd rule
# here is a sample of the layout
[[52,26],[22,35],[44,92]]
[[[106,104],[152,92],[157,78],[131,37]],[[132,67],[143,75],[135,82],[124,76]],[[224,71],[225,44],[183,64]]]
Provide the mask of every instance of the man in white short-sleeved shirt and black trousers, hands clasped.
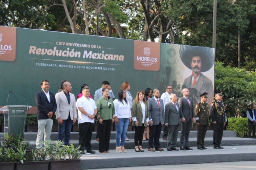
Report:
[[89,98],[90,89],[84,87],[82,89],[83,96],[78,98],[76,107],[78,108],[78,127],[79,127],[79,145],[83,154],[94,154],[95,151],[91,149],[92,131],[94,129],[94,117],[96,116],[98,109],[94,100]]

